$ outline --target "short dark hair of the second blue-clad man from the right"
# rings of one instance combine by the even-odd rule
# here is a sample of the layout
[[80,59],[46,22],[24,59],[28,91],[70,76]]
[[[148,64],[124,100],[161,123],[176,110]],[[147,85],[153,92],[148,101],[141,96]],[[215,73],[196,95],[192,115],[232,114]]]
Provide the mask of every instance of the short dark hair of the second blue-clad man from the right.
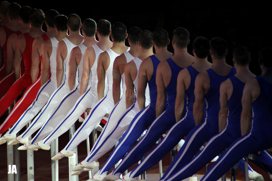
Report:
[[237,65],[245,66],[248,65],[250,62],[250,51],[245,46],[237,46],[237,48],[233,51],[233,58]]

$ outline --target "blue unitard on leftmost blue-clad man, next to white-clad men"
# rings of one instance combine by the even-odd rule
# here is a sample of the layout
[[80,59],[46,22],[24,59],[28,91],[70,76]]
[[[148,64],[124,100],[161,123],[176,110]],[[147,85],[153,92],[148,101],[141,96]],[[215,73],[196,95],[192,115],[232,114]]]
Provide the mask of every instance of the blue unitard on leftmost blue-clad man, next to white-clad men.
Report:
[[148,126],[156,119],[156,100],[157,100],[157,85],[156,85],[156,72],[160,60],[155,55],[150,56],[153,64],[153,74],[148,81],[150,90],[150,104],[141,110],[131,121],[127,131],[123,134],[119,143],[112,151],[106,163],[100,169],[99,174],[108,172],[114,165],[122,159],[129,149],[133,146],[134,142],[140,135],[147,129]]

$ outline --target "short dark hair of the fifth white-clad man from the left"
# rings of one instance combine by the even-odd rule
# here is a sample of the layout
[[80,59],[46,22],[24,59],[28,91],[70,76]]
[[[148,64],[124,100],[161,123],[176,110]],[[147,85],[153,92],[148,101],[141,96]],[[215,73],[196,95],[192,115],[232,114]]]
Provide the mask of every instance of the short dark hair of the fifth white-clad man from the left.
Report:
[[127,36],[127,28],[125,24],[117,22],[112,25],[112,38],[115,42],[125,41]]

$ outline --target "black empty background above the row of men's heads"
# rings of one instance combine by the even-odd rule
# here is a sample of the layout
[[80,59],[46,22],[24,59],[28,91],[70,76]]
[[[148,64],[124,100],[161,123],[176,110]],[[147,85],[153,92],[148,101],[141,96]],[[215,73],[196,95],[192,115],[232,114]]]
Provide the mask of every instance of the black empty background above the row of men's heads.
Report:
[[[157,27],[164,28],[172,39],[173,30],[184,27],[190,32],[188,52],[192,54],[192,43],[196,37],[203,36],[209,40],[222,37],[228,41],[229,52],[226,61],[232,65],[232,51],[238,45],[251,50],[250,69],[256,75],[261,71],[257,62],[258,51],[271,46],[271,10],[270,5],[261,1],[237,2],[220,1],[196,2],[180,1],[163,3],[137,1],[17,1],[21,6],[39,8],[46,12],[55,9],[60,14],[69,16],[76,13],[84,21],[106,19],[114,24],[124,23],[127,29],[137,26],[142,30],[153,32]],[[46,2],[46,3],[45,3]],[[43,27],[46,30],[45,24]],[[128,45],[128,42],[126,42]],[[173,52],[172,45],[168,46]],[[211,61],[211,58],[209,57]]]

